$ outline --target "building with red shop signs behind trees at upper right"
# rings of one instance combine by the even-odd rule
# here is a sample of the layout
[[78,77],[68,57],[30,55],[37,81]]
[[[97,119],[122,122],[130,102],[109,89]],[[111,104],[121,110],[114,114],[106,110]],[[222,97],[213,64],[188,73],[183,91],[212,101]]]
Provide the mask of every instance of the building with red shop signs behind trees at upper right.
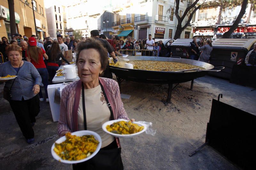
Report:
[[[241,6],[230,10],[223,10],[218,1],[204,5],[196,11],[195,21],[192,22],[193,33],[197,37],[221,38],[235,22]],[[256,38],[256,13],[251,4],[247,5],[246,12],[231,38]]]

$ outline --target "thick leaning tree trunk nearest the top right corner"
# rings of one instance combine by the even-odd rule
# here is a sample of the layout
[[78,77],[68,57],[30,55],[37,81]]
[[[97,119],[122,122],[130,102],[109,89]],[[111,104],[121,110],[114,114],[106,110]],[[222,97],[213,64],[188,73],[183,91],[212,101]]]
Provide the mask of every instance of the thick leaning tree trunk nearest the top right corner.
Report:
[[230,29],[225,32],[222,36],[222,38],[229,38],[230,35],[237,29],[238,27],[238,24],[240,23],[242,17],[244,16],[245,14],[245,10],[246,10],[246,7],[247,7],[247,4],[248,4],[248,0],[244,0],[243,3],[242,3],[242,6],[241,6],[241,10],[234,22],[234,24],[230,27]]

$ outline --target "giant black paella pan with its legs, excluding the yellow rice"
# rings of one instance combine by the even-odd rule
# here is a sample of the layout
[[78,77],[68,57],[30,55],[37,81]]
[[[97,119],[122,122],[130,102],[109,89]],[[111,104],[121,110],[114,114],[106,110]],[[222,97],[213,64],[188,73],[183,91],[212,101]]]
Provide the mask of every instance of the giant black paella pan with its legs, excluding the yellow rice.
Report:
[[[180,63],[190,63],[196,66],[204,67],[208,71],[220,71],[224,67],[214,68],[213,65],[199,62],[189,59],[180,58],[166,58],[166,57],[148,57],[148,56],[136,56],[127,57],[130,61],[134,60],[154,60],[154,61],[171,61]],[[126,69],[115,66],[109,66],[112,73],[115,73],[117,82],[121,92],[121,83],[123,80],[140,82],[140,83],[150,83],[150,84],[168,84],[168,95],[167,103],[171,103],[172,90],[179,84],[191,81],[190,89],[193,89],[193,83],[195,78],[203,77],[208,71],[189,71],[189,72],[175,72],[175,71],[149,71],[149,70],[137,70],[137,69]],[[173,84],[176,84],[172,88]]]

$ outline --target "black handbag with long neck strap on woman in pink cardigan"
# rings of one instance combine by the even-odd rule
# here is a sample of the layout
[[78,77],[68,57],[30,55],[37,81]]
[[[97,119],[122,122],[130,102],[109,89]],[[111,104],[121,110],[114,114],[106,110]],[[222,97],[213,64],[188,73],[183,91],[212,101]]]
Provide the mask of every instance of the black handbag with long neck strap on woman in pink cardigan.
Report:
[[[100,87],[107,101],[108,108],[110,110],[110,119],[114,120],[114,114],[113,114],[111,105],[108,101],[106,92],[101,83],[100,83]],[[87,130],[83,83],[82,83],[82,100],[83,100],[83,114],[84,114],[84,130]],[[124,166],[121,158],[121,148],[117,147],[116,140],[114,140],[108,146],[101,148],[100,151],[92,159],[82,163],[73,164],[73,169],[80,169],[80,168],[122,170],[124,169]]]

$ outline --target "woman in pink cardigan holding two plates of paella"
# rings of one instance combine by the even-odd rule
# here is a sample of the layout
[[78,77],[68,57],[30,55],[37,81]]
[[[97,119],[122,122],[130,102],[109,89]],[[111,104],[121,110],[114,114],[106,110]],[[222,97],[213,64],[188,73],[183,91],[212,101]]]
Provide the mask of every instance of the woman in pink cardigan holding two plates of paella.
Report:
[[100,41],[87,39],[77,48],[76,65],[80,80],[67,85],[61,93],[58,134],[92,130],[102,139],[100,151],[92,159],[73,165],[73,169],[123,169],[120,143],[101,126],[113,119],[126,119],[116,81],[100,78],[108,63],[108,52]]

